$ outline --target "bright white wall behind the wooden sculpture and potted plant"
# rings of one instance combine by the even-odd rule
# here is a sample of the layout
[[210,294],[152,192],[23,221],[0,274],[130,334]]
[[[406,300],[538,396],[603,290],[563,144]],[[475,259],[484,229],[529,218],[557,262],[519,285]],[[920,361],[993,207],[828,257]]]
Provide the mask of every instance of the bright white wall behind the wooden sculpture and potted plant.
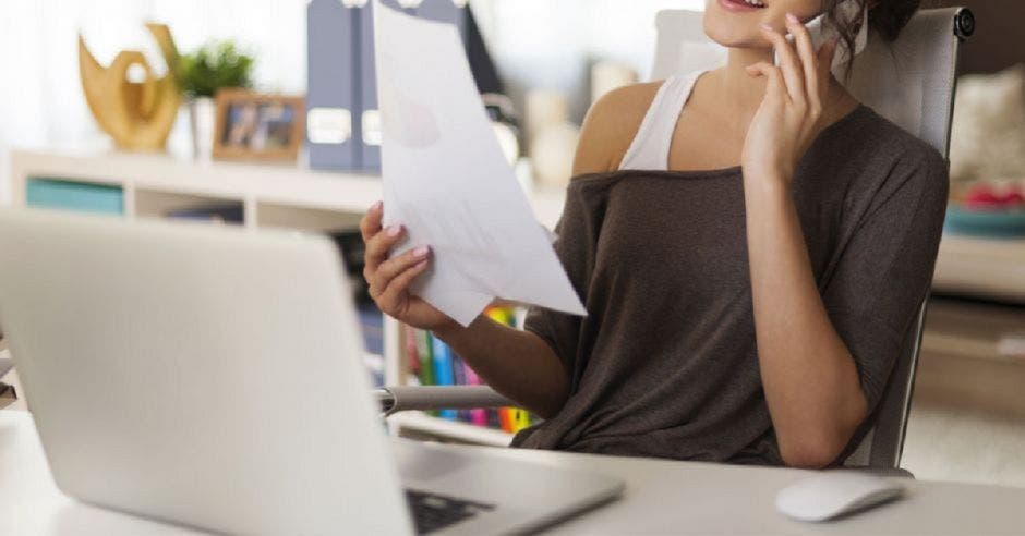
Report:
[[[182,51],[234,38],[257,57],[262,89],[303,93],[306,0],[2,0],[0,1],[0,204],[10,193],[10,147],[106,144],[79,78],[77,33],[96,58],[140,49],[162,62],[143,27],[171,27]],[[181,126],[181,125],[178,125]]]

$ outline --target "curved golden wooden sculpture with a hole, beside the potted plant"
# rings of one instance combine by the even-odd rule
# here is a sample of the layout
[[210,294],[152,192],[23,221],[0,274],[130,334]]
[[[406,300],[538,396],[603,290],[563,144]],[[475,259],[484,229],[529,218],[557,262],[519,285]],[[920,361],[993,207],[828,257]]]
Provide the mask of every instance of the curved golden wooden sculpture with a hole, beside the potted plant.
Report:
[[[162,150],[174,125],[181,96],[173,70],[178,49],[164,24],[146,24],[146,29],[160,47],[168,73],[157,78],[142,52],[124,50],[104,68],[79,35],[79,70],[89,110],[100,129],[109,134],[118,148],[128,150]],[[129,70],[138,65],[145,80],[131,82]]]

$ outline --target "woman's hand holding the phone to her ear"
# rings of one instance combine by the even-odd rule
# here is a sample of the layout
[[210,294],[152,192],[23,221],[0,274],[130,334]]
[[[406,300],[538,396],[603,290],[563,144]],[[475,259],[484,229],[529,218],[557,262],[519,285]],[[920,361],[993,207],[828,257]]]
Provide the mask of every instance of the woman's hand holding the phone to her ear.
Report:
[[836,41],[818,51],[808,28],[787,13],[786,28],[794,44],[762,25],[772,42],[780,66],[767,62],[747,68],[751,76],[768,81],[765,96],[751,120],[740,162],[746,178],[789,184],[797,162],[822,130],[822,102],[830,87],[830,68]]

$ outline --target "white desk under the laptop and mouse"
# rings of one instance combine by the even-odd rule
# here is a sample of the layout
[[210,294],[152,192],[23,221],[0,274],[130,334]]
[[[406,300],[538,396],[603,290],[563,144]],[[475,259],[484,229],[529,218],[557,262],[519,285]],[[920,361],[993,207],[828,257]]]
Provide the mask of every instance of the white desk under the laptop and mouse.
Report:
[[[482,447],[487,455],[624,478],[622,499],[555,527],[558,534],[1023,534],[1025,489],[907,480],[907,498],[829,524],[786,520],[775,494],[805,472]],[[50,477],[24,412],[0,411],[0,534],[184,535],[192,531],[75,502]]]

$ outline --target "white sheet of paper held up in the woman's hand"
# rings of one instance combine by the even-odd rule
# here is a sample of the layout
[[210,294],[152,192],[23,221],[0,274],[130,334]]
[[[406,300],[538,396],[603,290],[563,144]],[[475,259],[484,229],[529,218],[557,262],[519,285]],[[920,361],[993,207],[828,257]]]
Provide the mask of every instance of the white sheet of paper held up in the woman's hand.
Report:
[[385,224],[434,252],[412,292],[468,326],[494,297],[584,315],[498,146],[455,26],[374,0]]

